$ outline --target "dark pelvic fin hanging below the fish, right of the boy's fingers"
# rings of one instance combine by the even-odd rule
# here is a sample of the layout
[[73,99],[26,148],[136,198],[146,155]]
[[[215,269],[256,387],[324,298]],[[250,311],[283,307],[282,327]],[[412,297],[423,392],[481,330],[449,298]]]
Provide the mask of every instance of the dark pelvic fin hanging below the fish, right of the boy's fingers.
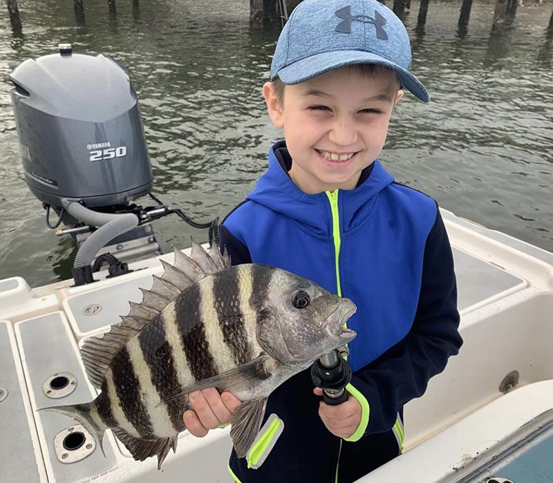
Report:
[[230,437],[236,455],[239,458],[245,457],[247,451],[259,433],[261,421],[265,414],[267,398],[245,401],[232,413],[230,417]]

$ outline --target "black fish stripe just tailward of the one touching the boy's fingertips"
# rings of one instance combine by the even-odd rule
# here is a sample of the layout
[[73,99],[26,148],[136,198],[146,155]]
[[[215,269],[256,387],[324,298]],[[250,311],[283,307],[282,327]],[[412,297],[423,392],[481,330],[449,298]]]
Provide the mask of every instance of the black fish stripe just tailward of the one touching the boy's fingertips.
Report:
[[113,357],[111,368],[113,385],[126,419],[140,435],[153,437],[150,417],[140,397],[140,383],[125,346]]

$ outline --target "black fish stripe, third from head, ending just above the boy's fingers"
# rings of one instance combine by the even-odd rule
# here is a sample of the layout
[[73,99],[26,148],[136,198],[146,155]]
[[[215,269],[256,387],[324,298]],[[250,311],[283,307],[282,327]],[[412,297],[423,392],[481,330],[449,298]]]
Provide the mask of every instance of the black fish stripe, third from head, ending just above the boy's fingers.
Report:
[[217,374],[209,352],[205,328],[200,320],[200,287],[197,283],[182,292],[175,301],[175,316],[190,372],[196,381]]

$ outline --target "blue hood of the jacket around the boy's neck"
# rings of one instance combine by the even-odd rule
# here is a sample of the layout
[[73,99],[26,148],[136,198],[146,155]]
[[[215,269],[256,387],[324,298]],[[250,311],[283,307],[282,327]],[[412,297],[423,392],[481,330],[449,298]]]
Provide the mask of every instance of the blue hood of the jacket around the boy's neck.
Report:
[[[301,191],[288,176],[291,162],[285,142],[274,144],[269,151],[268,170],[259,178],[246,199],[296,220],[304,229],[319,236],[331,235],[332,212],[327,194]],[[364,169],[355,189],[339,189],[341,231],[354,229],[370,216],[379,193],[393,180],[379,160],[375,160]]]

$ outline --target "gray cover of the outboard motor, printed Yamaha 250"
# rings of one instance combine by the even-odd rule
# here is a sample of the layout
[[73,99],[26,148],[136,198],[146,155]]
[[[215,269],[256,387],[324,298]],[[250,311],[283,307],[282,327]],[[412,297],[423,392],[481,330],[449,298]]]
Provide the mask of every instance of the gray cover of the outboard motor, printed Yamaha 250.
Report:
[[22,62],[10,79],[24,176],[39,200],[57,208],[63,198],[104,207],[149,193],[136,94],[113,59],[45,55]]

